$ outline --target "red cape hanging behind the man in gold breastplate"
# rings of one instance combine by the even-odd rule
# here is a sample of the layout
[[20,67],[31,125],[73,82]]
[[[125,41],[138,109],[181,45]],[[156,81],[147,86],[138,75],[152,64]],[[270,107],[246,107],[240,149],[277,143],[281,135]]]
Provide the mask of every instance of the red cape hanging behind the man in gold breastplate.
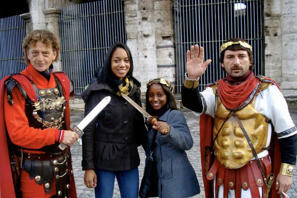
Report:
[[[265,78],[265,80],[266,82],[272,83],[279,88],[279,85],[275,81],[271,80],[270,78]],[[213,126],[214,126],[214,118],[204,113],[200,115],[200,153],[201,153],[202,177],[203,177],[203,184],[204,184],[204,190],[205,190],[205,197],[207,198],[214,197],[213,181],[206,179],[206,177],[204,176],[205,147],[213,146],[213,138],[212,138]],[[279,168],[281,165],[281,160],[279,160],[281,159],[280,158],[281,156],[280,156],[279,142],[276,137],[276,133],[274,133],[273,129],[271,131],[270,146],[275,149],[275,152],[269,151],[269,156],[271,158],[271,172],[274,173],[274,180],[276,180],[277,175],[279,173]],[[211,164],[209,167],[211,167]],[[271,186],[271,190],[269,192],[268,197],[279,198],[279,194],[277,194],[277,190],[275,190],[275,182]]]

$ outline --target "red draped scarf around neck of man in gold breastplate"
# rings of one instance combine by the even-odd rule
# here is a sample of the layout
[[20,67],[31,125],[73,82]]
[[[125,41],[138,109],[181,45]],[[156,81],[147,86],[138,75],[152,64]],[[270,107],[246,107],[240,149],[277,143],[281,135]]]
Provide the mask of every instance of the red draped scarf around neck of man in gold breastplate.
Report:
[[227,78],[222,78],[218,82],[219,97],[223,105],[228,109],[236,109],[247,101],[259,79],[255,78],[254,72],[249,70],[239,79],[227,75]]

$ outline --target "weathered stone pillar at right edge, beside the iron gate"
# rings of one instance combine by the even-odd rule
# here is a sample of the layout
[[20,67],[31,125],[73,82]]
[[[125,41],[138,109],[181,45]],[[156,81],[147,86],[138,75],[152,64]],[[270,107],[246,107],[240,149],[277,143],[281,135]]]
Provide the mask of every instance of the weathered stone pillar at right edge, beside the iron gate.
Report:
[[277,80],[285,96],[297,96],[297,4],[264,1],[265,75]]

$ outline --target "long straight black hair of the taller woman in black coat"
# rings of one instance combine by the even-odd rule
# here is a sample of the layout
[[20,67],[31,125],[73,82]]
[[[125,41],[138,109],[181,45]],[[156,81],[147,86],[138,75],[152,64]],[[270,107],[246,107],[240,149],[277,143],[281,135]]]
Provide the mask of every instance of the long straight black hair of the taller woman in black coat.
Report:
[[110,76],[111,73],[113,73],[113,71],[111,70],[111,57],[113,55],[113,52],[117,48],[123,48],[124,50],[126,50],[127,55],[129,57],[129,62],[130,62],[130,69],[129,69],[127,75],[132,77],[132,75],[133,75],[133,59],[132,59],[131,51],[130,51],[129,47],[126,44],[121,43],[121,42],[116,42],[113,45],[111,45],[107,50],[105,60],[104,60],[104,63],[103,63],[102,71],[98,76],[98,82],[99,83],[107,83],[108,76]]

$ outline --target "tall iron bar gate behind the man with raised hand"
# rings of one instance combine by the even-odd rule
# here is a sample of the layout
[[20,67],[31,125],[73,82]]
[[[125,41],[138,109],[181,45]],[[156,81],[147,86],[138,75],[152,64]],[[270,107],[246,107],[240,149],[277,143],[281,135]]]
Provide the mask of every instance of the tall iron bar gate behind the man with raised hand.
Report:
[[204,59],[212,59],[200,77],[199,89],[225,77],[219,62],[220,46],[228,39],[246,39],[252,45],[255,75],[264,75],[263,1],[261,0],[176,0],[174,2],[176,84],[181,91],[186,52],[191,45],[204,47]]

